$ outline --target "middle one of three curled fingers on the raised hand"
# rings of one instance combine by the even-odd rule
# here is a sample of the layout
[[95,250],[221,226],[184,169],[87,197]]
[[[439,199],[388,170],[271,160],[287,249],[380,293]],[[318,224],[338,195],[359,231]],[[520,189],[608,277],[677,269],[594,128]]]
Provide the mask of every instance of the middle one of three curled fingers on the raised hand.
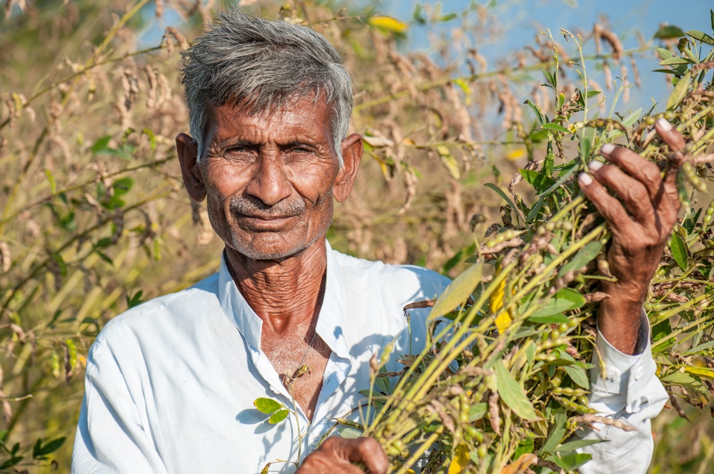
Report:
[[616,166],[603,165],[599,161],[591,162],[588,168],[598,182],[609,187],[622,198],[634,220],[643,225],[654,222],[655,207],[648,189],[642,182],[625,175]]

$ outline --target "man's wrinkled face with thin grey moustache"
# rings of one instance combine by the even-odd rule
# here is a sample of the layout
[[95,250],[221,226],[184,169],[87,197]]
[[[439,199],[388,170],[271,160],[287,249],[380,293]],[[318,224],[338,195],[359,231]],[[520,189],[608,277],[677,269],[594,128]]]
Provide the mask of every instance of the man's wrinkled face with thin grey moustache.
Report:
[[[346,199],[356,172],[350,172],[352,163],[339,166],[330,114],[311,97],[289,101],[273,114],[213,108],[197,167],[211,225],[226,246],[251,259],[282,259],[325,235],[333,197]],[[345,151],[346,162],[352,160],[351,150]]]

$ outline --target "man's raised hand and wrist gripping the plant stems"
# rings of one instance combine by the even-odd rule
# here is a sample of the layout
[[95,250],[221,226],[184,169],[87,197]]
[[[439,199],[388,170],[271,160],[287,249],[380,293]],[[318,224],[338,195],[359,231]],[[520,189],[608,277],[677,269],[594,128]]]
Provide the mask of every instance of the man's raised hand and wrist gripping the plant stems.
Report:
[[[683,150],[682,135],[667,120],[657,120],[655,130],[670,150]],[[657,165],[628,148],[606,143],[600,154],[611,164],[593,161],[589,165],[590,175],[583,173],[578,177],[583,194],[605,217],[613,233],[608,264],[618,281],[603,282],[602,291],[609,298],[600,302],[598,326],[616,349],[633,354],[640,329],[640,309],[677,222],[680,203],[675,180],[680,163],[669,164],[662,177]],[[623,203],[610,195],[605,186]]]

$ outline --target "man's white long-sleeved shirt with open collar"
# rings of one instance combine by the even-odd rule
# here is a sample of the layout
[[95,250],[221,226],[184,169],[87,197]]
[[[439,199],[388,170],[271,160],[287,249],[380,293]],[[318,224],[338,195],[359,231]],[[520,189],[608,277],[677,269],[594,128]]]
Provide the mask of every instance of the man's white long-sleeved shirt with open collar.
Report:
[[[328,245],[316,330],[332,353],[310,424],[261,351],[262,321],[222,259],[218,273],[130,309],[101,331],[87,359],[72,473],[261,473],[268,463],[270,473],[292,473],[294,465],[281,461],[304,458],[333,428],[333,418],[359,419],[354,408],[363,399],[358,391],[369,387],[373,354],[395,336],[394,353],[421,351],[428,309],[410,311],[406,331],[403,306],[438,296],[448,282],[427,269],[368,262]],[[642,418],[638,428],[648,436],[613,432],[613,442],[591,445],[588,452],[604,460],[610,473],[612,463],[625,457],[640,468],[616,472],[644,473],[652,453],[648,418],[663,403],[650,370],[654,362],[649,350],[624,356],[605,342],[601,351],[608,376],[617,376],[600,383],[593,375],[593,406],[608,414],[622,411],[630,422]],[[638,377],[632,368],[640,366]],[[388,367],[401,368],[395,361]],[[295,411],[271,425],[253,406],[259,397]]]

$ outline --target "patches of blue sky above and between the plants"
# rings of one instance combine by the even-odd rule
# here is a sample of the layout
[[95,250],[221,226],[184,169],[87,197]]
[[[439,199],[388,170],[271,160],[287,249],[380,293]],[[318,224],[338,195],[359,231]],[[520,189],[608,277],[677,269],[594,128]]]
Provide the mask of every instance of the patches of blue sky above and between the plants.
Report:
[[[258,4],[260,3],[258,0]],[[371,2],[354,1],[356,5],[368,3]],[[539,30],[550,29],[554,36],[560,28],[573,32],[588,32],[602,16],[607,17],[610,29],[618,34],[625,48],[639,46],[636,36],[638,31],[649,41],[662,23],[679,26],[684,31],[696,29],[712,34],[709,11],[714,7],[713,0],[382,0],[381,9],[384,14],[411,21],[418,3],[433,6],[441,4],[443,14],[461,12],[471,4],[490,4],[489,8],[498,15],[504,32],[498,36],[497,41],[483,43],[479,48],[479,52],[486,56],[490,64],[494,64],[497,58],[506,53],[531,44]],[[441,24],[441,28],[449,31],[458,26],[458,21],[459,19],[455,19]],[[145,32],[141,38],[141,46],[158,43],[166,26],[178,24],[178,15],[171,9],[166,9],[164,18],[159,19]],[[430,47],[426,31],[414,24],[408,31],[405,48],[430,51]],[[657,62],[652,54],[638,57],[643,86],[641,89],[630,90],[628,108],[648,108],[653,98],[656,101],[665,101],[668,97],[669,86],[663,80],[663,75],[649,72],[659,67]],[[602,83],[602,74],[595,78]]]

